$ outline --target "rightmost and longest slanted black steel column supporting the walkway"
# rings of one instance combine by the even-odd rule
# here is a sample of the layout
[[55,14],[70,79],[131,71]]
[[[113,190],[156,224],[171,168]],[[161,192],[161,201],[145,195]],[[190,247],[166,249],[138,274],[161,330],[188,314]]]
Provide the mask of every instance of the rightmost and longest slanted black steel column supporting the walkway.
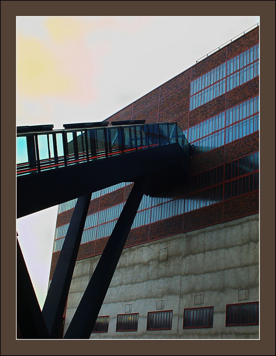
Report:
[[146,175],[135,182],[64,339],[89,339],[148,180]]

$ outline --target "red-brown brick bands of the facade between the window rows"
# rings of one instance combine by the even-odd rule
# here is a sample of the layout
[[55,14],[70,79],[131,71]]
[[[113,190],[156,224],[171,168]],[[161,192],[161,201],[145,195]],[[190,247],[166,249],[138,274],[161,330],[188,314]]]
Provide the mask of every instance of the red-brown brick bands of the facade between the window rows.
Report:
[[[221,50],[185,72],[162,84],[152,92],[138,99],[126,108],[110,116],[107,121],[146,120],[147,123],[176,121],[181,130],[186,130],[229,107],[248,100],[259,93],[259,78],[254,78],[230,92],[189,112],[190,82],[209,70],[218,67],[229,58],[249,49],[259,41],[259,28],[233,41]],[[190,176],[220,166],[244,155],[259,150],[259,133],[240,138],[216,150],[191,159]],[[91,201],[88,214],[107,209],[127,199],[132,186],[119,189]],[[259,210],[259,192],[249,193],[225,202],[213,204],[202,209],[178,215],[130,231],[125,247],[164,238],[173,234],[198,229],[204,226],[236,219],[257,213]],[[73,210],[57,216],[56,226],[70,222]],[[78,259],[101,254],[108,238],[99,239],[80,246]],[[53,254],[52,269],[57,262],[59,252]]]

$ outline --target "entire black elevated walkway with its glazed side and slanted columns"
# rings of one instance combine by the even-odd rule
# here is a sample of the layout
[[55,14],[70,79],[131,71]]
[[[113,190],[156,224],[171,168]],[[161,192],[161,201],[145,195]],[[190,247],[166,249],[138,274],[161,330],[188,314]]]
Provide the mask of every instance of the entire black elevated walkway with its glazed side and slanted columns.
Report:
[[[22,338],[62,338],[63,314],[91,193],[116,183],[134,182],[64,335],[64,339],[89,339],[143,194],[187,179],[190,146],[175,123],[64,131],[51,128],[18,130],[28,159],[17,165],[17,217],[78,199],[42,311],[17,242],[17,322]],[[57,185],[58,181],[63,184]]]

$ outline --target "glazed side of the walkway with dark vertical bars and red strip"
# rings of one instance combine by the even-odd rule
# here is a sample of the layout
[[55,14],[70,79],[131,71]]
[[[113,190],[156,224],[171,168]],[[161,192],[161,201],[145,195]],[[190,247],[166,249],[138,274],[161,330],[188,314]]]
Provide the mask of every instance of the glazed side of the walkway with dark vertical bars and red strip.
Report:
[[176,142],[189,157],[190,144],[177,123],[17,133],[17,176]]

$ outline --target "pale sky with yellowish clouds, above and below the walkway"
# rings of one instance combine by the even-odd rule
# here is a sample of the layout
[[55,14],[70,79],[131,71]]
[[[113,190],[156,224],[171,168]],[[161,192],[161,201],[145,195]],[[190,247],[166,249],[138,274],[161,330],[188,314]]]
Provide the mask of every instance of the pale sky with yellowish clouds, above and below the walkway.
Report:
[[[258,16],[16,18],[16,125],[103,121],[260,22]],[[17,219],[43,307],[57,206]]]

